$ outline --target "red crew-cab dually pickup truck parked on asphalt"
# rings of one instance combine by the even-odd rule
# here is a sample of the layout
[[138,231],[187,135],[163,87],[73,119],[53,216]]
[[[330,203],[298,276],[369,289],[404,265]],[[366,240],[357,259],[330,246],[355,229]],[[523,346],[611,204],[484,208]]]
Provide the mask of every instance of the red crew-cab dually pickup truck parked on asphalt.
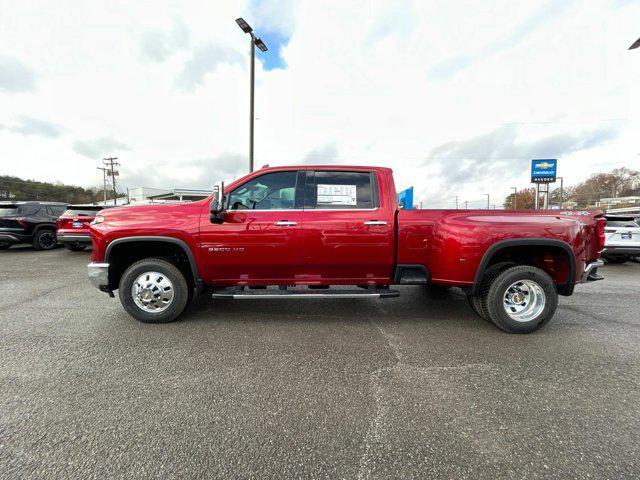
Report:
[[143,322],[174,320],[205,286],[262,299],[432,285],[462,288],[479,316],[527,333],[558,295],[602,278],[605,222],[586,211],[399,210],[388,168],[264,168],[202,201],[101,212],[88,274]]

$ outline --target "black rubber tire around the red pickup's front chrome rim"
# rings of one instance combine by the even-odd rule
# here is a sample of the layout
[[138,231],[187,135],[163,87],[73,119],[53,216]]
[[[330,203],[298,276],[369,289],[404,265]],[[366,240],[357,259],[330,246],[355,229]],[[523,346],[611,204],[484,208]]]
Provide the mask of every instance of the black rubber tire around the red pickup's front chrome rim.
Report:
[[[136,279],[145,272],[158,272],[173,286],[173,300],[160,312],[149,312],[139,307],[133,299],[131,289]],[[131,265],[120,278],[118,286],[120,303],[136,320],[145,323],[172,322],[186,309],[190,297],[189,286],[183,273],[172,263],[162,258],[145,258]]]

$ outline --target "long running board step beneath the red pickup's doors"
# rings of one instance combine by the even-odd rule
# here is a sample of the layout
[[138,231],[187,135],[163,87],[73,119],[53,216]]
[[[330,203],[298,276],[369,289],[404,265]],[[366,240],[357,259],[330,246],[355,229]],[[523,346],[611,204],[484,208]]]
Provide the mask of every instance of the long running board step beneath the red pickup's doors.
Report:
[[377,290],[239,290],[236,288],[224,288],[211,294],[212,298],[233,299],[285,299],[285,298],[394,298],[399,297],[400,292],[390,289]]

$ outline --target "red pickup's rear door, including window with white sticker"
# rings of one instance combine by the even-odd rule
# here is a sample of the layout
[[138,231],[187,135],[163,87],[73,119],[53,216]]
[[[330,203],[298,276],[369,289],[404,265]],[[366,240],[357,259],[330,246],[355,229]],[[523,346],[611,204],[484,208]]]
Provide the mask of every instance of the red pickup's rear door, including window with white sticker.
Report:
[[302,251],[310,283],[391,282],[395,216],[379,184],[375,172],[307,172]]

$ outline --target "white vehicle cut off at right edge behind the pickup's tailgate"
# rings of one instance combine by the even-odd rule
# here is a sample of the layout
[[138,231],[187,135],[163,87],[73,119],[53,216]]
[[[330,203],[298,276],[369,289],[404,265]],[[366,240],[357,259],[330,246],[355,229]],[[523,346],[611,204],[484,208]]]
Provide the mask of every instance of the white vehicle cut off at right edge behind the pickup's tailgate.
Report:
[[624,263],[640,256],[640,224],[633,216],[606,215],[602,258],[609,263]]

